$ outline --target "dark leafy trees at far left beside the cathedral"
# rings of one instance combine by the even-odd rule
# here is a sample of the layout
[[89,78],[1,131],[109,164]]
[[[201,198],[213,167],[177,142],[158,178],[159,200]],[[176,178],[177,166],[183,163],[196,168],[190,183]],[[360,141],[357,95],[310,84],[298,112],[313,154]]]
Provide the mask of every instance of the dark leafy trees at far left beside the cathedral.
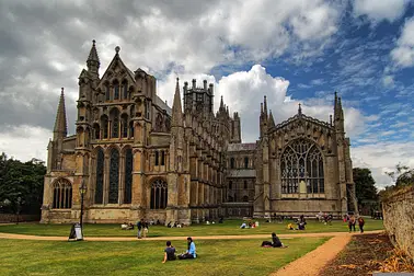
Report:
[[32,159],[22,163],[0,156],[0,209],[7,212],[38,214],[42,206],[46,168]]

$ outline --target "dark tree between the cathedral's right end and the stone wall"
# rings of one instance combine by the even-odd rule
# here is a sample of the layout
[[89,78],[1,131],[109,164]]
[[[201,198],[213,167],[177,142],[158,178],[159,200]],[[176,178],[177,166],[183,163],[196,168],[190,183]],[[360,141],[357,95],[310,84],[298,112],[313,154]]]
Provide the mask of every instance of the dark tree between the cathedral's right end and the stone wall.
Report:
[[358,205],[367,200],[377,202],[378,191],[371,171],[367,168],[354,168],[353,173]]

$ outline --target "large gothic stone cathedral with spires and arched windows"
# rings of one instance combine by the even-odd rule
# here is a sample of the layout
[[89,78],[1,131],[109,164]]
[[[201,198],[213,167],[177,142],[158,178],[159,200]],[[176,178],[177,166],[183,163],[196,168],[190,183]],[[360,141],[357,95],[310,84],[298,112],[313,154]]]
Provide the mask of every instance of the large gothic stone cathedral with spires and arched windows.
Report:
[[[120,48],[100,77],[93,41],[79,76],[76,135],[61,90],[48,143],[42,222],[118,223],[140,218],[191,225],[218,217],[356,210],[341,97],[334,122],[298,114],[278,125],[261,106],[260,139],[242,143],[239,113],[214,84],[176,80],[172,107],[153,76],[129,70]],[[182,102],[182,99],[184,100]],[[83,187],[83,193],[80,193]]]

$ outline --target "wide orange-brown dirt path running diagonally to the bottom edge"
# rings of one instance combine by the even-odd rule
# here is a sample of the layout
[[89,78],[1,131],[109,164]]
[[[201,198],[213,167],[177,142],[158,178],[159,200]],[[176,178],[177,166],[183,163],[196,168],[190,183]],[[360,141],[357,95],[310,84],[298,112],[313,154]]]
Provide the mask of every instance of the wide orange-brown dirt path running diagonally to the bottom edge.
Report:
[[319,275],[321,269],[335,256],[345,249],[350,241],[352,234],[336,235],[331,240],[320,245],[318,249],[309,252],[304,256],[289,263],[277,272],[271,274],[272,276],[303,276],[303,275]]

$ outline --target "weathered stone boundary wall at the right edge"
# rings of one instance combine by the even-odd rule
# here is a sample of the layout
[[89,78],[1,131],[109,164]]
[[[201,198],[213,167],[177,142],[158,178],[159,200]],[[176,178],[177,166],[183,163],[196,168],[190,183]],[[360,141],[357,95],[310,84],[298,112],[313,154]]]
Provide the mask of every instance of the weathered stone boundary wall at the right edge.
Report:
[[382,199],[382,212],[391,242],[414,260],[414,186],[388,194]]

